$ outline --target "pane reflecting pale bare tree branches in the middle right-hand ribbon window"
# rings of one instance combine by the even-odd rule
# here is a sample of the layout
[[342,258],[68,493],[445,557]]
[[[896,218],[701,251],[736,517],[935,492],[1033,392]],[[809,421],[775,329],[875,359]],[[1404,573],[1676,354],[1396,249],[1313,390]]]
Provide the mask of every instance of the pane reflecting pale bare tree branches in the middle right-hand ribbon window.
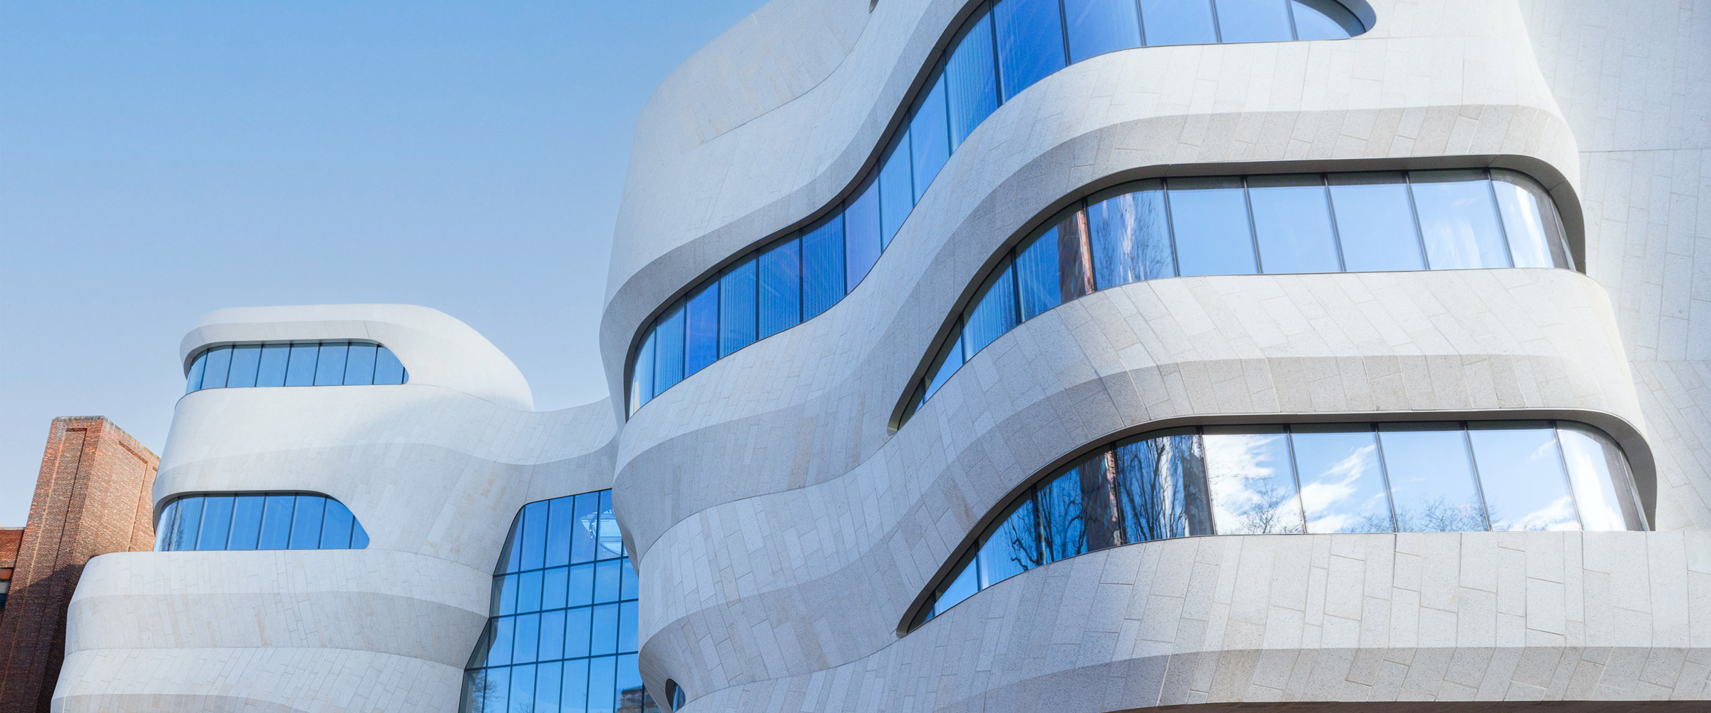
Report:
[[1093,195],[1086,226],[1098,289],[1175,275],[1163,181],[1128,185],[1105,198]]

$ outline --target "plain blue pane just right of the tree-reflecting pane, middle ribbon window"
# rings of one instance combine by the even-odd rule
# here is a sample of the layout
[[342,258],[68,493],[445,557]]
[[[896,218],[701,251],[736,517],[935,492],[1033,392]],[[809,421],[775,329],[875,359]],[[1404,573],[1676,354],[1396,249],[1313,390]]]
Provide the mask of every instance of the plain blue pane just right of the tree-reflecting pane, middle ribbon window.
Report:
[[1167,188],[1182,275],[1259,272],[1240,178],[1172,178]]

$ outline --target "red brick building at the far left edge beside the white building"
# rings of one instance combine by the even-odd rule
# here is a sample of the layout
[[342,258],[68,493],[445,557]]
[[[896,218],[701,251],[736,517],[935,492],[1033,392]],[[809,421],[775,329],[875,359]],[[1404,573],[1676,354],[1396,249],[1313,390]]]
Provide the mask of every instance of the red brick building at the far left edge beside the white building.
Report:
[[53,419],[29,521],[0,530],[0,713],[48,713],[84,563],[154,549],[159,463],[103,415]]

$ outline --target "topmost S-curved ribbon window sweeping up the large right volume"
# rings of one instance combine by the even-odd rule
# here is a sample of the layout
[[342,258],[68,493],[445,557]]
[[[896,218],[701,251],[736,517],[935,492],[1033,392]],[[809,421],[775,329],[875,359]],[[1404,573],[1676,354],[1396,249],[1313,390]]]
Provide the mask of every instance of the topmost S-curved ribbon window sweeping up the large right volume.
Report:
[[856,289],[951,152],[999,104],[1093,55],[1155,44],[1343,39],[1336,0],[1001,0],[960,29],[859,188],[648,323],[630,359],[630,414],[707,364],[813,318]]

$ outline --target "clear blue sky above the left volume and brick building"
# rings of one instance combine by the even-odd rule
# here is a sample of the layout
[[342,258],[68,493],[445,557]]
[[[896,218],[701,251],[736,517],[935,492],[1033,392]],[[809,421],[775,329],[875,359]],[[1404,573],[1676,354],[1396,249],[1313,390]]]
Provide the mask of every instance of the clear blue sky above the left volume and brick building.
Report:
[[426,304],[604,397],[636,115],[760,3],[0,3],[0,525],[55,415],[159,453],[222,306]]

